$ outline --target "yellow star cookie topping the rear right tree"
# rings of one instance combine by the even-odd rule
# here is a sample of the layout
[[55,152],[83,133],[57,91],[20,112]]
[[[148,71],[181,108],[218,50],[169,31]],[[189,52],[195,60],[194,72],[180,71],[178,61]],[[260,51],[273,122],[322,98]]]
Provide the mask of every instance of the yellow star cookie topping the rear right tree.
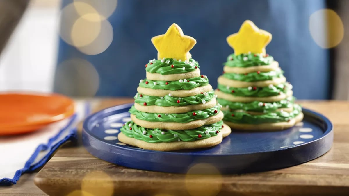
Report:
[[265,47],[272,40],[272,34],[259,29],[252,21],[246,20],[239,32],[227,37],[227,42],[234,49],[235,55],[251,53],[265,54]]

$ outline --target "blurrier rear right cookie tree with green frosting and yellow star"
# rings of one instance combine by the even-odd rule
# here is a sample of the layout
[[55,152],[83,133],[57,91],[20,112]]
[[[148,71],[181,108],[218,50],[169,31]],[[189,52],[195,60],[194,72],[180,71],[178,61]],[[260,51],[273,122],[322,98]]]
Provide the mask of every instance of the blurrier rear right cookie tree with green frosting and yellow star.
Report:
[[234,129],[278,130],[303,119],[295,104],[292,85],[265,47],[272,35],[245,21],[239,32],[227,38],[234,49],[218,77],[217,101],[223,108],[224,122]]

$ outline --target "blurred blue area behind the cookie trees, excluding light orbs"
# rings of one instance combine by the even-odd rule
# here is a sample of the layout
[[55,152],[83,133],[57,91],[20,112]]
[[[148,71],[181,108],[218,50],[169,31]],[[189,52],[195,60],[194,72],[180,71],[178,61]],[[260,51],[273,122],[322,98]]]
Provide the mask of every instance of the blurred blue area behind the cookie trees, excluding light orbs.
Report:
[[[64,0],[62,6],[70,2]],[[294,95],[328,99],[329,51],[315,44],[309,32],[309,17],[321,8],[325,8],[323,0],[118,0],[108,19],[114,31],[110,47],[98,55],[84,55],[60,40],[58,65],[66,59],[84,58],[99,74],[96,96],[134,96],[146,75],[144,65],[157,57],[150,39],[177,23],[185,35],[196,39],[192,57],[216,88],[222,63],[233,53],[225,38],[248,19],[272,33],[267,53],[279,61]],[[56,80],[56,91],[57,84]]]

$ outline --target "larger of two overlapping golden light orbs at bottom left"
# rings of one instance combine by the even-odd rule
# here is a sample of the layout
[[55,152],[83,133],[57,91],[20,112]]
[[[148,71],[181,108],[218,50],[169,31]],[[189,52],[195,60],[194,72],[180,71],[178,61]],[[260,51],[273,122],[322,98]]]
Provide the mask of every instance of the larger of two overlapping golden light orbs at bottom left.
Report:
[[111,196],[114,194],[114,183],[105,172],[93,171],[82,179],[81,190],[92,195]]

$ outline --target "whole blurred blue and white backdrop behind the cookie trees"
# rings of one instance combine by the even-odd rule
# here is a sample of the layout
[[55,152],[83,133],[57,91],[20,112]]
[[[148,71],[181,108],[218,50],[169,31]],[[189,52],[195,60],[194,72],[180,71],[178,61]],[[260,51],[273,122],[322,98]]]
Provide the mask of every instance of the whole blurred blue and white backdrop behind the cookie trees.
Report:
[[177,23],[210,84],[233,53],[225,38],[245,20],[273,34],[298,99],[349,99],[349,1],[346,0],[2,0],[0,91],[72,97],[134,96],[150,39]]

